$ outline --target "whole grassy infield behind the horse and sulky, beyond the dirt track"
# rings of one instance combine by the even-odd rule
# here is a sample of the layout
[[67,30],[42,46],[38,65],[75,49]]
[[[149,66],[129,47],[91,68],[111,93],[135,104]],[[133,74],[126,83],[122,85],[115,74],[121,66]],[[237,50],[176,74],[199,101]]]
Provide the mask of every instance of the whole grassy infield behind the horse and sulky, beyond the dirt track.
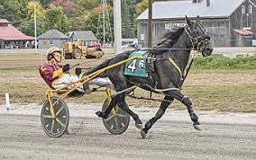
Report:
[[[113,55],[106,55],[111,58]],[[93,67],[103,59],[66,60],[71,65]],[[226,64],[227,61],[238,62]],[[10,93],[12,103],[42,103],[48,88],[38,73],[40,55],[0,55],[0,103],[5,103],[5,93]],[[236,68],[239,67],[239,68]],[[196,110],[256,112],[256,68],[255,58],[197,58],[189,73],[184,89]],[[139,96],[149,93],[136,90]],[[153,94],[154,98],[162,95]],[[92,93],[83,98],[69,98],[69,102],[102,103],[105,93]],[[158,107],[160,102],[134,100],[133,106]],[[171,105],[174,110],[186,110],[180,102]]]

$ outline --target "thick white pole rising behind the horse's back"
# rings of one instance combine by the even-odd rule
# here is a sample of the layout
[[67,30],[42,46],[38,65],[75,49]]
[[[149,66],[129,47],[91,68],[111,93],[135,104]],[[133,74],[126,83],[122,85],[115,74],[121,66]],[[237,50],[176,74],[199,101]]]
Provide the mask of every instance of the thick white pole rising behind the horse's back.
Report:
[[114,53],[122,52],[121,0],[114,0]]

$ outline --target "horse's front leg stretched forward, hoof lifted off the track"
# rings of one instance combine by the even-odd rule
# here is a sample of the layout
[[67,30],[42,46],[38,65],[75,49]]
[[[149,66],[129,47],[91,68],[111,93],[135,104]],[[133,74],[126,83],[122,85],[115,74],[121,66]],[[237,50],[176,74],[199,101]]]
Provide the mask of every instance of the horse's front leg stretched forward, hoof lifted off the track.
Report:
[[188,97],[183,95],[179,91],[169,91],[167,94],[187,106],[187,111],[189,113],[190,119],[193,121],[194,129],[201,130],[201,128],[199,127],[200,123],[198,121],[198,116],[194,111],[192,107],[192,102],[188,99]]

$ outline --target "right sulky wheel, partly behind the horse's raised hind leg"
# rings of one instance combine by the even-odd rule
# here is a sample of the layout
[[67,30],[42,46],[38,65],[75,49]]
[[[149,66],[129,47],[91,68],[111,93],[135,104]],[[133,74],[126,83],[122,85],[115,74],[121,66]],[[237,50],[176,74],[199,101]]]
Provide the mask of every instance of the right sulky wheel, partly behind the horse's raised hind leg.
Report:
[[[105,100],[102,111],[106,110],[108,104],[108,100]],[[130,115],[118,107],[118,105],[114,106],[113,110],[114,111],[110,112],[107,119],[102,120],[105,125],[105,129],[114,135],[120,135],[129,127]]]

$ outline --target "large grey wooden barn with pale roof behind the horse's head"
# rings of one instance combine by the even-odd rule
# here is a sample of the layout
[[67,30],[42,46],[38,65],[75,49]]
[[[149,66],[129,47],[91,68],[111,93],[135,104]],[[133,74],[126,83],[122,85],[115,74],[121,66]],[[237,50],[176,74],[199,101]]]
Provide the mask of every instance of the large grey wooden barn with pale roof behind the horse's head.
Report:
[[[256,5],[251,0],[176,0],[152,5],[152,44],[173,26],[185,26],[185,15],[201,17],[215,47],[251,46],[256,40]],[[148,9],[138,18],[138,40],[147,47]]]

